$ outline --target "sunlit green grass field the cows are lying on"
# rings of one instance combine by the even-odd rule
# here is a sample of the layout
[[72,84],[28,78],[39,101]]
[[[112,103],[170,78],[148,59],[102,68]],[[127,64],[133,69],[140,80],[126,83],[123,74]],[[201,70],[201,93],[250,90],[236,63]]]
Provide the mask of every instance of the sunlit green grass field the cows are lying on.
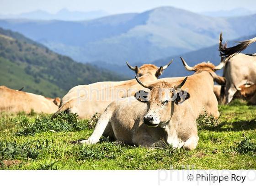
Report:
[[256,169],[256,106],[239,100],[219,106],[218,122],[198,122],[194,151],[71,142],[87,139],[95,121],[64,115],[0,114],[0,169]]

